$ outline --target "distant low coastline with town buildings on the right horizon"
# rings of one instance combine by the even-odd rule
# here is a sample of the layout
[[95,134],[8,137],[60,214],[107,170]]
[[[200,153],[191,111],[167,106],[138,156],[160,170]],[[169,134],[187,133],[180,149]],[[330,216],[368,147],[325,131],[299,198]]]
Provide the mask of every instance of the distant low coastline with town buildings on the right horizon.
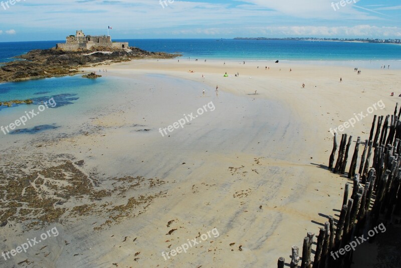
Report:
[[337,42],[364,42],[364,43],[384,43],[384,44],[401,44],[400,39],[373,39],[373,38],[266,38],[266,37],[236,37],[235,40],[294,40],[294,41],[337,41]]

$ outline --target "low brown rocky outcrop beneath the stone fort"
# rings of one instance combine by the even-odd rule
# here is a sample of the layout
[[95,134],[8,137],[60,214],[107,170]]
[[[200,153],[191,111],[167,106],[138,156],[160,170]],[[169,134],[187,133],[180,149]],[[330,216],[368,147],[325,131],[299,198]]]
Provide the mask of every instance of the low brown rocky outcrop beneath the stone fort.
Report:
[[[99,52],[91,55],[85,53]],[[109,51],[105,54],[101,51]],[[162,52],[148,52],[139,48],[125,50],[98,47],[93,50],[62,51],[53,49],[33,50],[16,58],[21,61],[6,63],[0,67],[0,83],[32,78],[43,78],[79,73],[80,68],[102,63],[117,63],[133,59],[170,59],[181,55]]]

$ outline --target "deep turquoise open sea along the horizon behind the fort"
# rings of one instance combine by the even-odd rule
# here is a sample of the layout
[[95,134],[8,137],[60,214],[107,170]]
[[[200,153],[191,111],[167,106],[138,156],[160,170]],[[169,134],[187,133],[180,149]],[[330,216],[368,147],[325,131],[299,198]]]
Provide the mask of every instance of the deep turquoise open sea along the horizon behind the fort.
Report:
[[[181,53],[183,57],[232,60],[392,60],[401,61],[401,46],[394,44],[283,41],[283,40],[233,40],[233,39],[143,39],[115,40],[129,42],[130,46],[147,51]],[[32,49],[48,49],[56,43],[13,42],[0,43],[0,62],[27,53]]]

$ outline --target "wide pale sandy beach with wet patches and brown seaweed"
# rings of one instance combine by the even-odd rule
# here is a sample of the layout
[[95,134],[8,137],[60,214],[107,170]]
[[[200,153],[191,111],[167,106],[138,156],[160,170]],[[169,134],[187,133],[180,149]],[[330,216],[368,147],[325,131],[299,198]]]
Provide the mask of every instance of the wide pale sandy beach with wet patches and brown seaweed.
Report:
[[[275,267],[280,256],[289,263],[292,245],[302,248],[328,215],[338,219],[348,179],[327,170],[330,128],[363,111],[339,135],[364,141],[373,115],[392,114],[401,100],[401,70],[391,68],[358,75],[340,66],[181,58],[84,71],[106,68],[99,79],[115,88],[84,115],[63,119],[56,109],[35,124],[58,118],[59,129],[2,137],[0,175],[26,183],[9,183],[13,195],[2,203],[11,206],[8,197],[29,186],[38,199],[21,200],[15,222],[0,228],[2,237],[17,234],[1,249],[59,230],[5,267]],[[190,113],[196,117],[183,127],[160,133]],[[45,196],[62,202],[29,211]],[[34,215],[53,223],[27,227],[24,216]],[[187,252],[162,255],[194,238],[202,242]]]

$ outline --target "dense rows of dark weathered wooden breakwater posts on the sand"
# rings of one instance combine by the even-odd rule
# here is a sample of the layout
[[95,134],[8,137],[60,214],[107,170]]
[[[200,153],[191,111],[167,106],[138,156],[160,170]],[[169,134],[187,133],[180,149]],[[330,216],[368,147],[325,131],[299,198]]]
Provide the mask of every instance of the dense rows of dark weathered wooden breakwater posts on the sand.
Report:
[[[387,115],[384,121],[383,116],[374,116],[369,139],[364,141],[359,169],[356,170],[360,144],[360,137],[358,137],[347,174],[348,178],[353,178],[351,196],[348,196],[351,184],[346,183],[337,228],[334,228],[334,217],[328,216],[325,227],[320,228],[317,237],[313,262],[310,252],[313,235],[308,233],[304,237],[302,268],[349,268],[352,263],[352,251],[344,255],[340,254],[338,258],[334,258],[331,252],[343,248],[353,241],[353,237],[363,234],[363,231],[373,229],[380,223],[400,221],[401,121],[399,119],[401,109],[396,115],[397,105],[394,115]],[[374,131],[375,126],[376,131]],[[343,174],[346,169],[351,136],[348,144],[346,144],[347,137],[346,134],[342,134],[338,146],[336,134],[334,135],[328,165],[328,169],[334,173]],[[335,159],[337,149],[338,155]],[[373,195],[374,198],[372,198]],[[292,251],[290,266],[296,267],[296,263],[299,261],[299,247],[293,246]],[[278,263],[281,265],[280,259]]]

